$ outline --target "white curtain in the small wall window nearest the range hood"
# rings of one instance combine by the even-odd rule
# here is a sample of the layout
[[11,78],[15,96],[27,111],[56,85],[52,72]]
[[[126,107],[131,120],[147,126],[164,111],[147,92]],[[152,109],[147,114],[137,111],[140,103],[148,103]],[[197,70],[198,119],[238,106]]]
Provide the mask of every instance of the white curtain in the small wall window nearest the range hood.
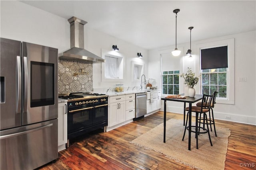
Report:
[[118,58],[105,56],[105,77],[119,78]]

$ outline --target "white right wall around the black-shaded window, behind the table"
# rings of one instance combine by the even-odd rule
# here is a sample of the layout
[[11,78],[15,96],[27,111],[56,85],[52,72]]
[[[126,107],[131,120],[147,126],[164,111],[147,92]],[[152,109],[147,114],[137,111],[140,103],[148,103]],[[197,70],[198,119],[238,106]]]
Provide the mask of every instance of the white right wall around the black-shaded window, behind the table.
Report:
[[[241,123],[256,124],[256,33],[255,31],[239,33],[235,35],[227,35],[213,39],[204,39],[192,42],[193,59],[189,60],[186,56],[180,56],[183,60],[180,72],[186,72],[186,68],[190,67],[196,75],[199,75],[198,57],[199,51],[196,44],[221,41],[234,38],[234,104],[217,103],[214,107],[214,117],[216,119],[224,119],[228,121],[236,121]],[[180,44],[178,49],[186,51],[190,48],[190,44]],[[162,51],[172,51],[174,47],[163,47],[149,51],[148,68],[156,68],[148,70],[148,74],[155,78],[158,86],[161,86],[160,76],[160,54]],[[184,52],[186,53],[186,52]],[[171,61],[170,61],[171,62]],[[171,70],[171,68],[170,68]],[[239,82],[240,77],[246,77],[246,82]],[[196,92],[200,92],[199,86],[196,86]],[[181,89],[183,92],[183,89]],[[163,105],[163,103],[162,103]],[[163,106],[162,106],[163,108]],[[168,102],[167,110],[176,113],[183,113],[183,104],[177,102]],[[229,115],[231,119],[225,119],[225,115]]]

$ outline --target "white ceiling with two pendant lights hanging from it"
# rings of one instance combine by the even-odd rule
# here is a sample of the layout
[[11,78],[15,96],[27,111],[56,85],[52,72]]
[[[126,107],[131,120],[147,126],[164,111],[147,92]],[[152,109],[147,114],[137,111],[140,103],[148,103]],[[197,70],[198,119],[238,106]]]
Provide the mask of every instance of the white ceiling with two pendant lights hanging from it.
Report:
[[[75,16],[86,27],[104,32],[145,49],[256,30],[256,1],[83,0],[21,1],[62,18]],[[68,22],[68,21],[67,21]]]

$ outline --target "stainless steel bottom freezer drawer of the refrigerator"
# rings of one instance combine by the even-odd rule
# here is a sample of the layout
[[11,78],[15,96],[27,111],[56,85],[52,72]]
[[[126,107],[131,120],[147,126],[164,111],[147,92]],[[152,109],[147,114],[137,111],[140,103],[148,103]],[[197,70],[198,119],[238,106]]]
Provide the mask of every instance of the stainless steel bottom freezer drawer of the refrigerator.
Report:
[[58,119],[0,132],[1,170],[32,170],[58,158]]

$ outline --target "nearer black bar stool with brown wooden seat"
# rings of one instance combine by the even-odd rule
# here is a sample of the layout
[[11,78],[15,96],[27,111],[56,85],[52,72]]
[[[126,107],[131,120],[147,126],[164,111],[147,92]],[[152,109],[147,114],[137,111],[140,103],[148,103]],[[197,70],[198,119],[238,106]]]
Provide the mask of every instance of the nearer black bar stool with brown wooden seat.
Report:
[[[209,141],[210,141],[210,144],[212,146],[212,141],[211,141],[211,137],[210,137],[208,121],[205,121],[206,128],[205,127],[201,127],[200,126],[201,123],[198,121],[199,113],[200,114],[203,113],[204,117],[205,117],[205,120],[207,120],[207,114],[206,113],[210,111],[210,108],[211,108],[210,105],[212,103],[212,99],[213,99],[213,95],[204,94],[203,98],[202,98],[202,101],[204,101],[205,104],[204,104],[204,102],[201,102],[202,103],[201,106],[192,106],[192,109],[191,109],[192,112],[196,113],[196,125],[195,126],[191,126],[191,127],[195,128],[195,131],[191,131],[191,132],[196,133],[196,149],[198,149],[198,135],[201,134],[201,133],[208,133]],[[189,107],[186,107],[185,110],[188,111],[188,114],[189,114]],[[184,134],[183,134],[182,141],[184,141],[186,130],[189,128],[187,126],[187,124],[188,124],[188,114],[187,114],[186,125],[185,125],[185,129],[184,129]],[[198,126],[198,123],[199,123],[199,126]],[[202,131],[200,132],[200,130],[202,130]]]

